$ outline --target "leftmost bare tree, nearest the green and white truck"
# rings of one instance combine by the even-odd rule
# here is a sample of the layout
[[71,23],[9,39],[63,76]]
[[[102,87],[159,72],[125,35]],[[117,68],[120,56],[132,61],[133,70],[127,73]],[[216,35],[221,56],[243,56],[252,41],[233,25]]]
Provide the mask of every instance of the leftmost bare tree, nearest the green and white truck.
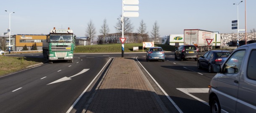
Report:
[[85,36],[88,36],[89,45],[91,45],[91,42],[93,42],[95,34],[96,34],[96,28],[94,27],[94,23],[92,22],[92,20],[90,20],[87,23],[87,28],[85,31]]

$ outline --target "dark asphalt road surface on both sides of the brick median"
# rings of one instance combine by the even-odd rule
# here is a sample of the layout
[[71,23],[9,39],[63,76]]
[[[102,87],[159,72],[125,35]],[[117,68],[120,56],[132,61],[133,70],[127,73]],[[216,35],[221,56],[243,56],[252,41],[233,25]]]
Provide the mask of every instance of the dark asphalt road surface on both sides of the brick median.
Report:
[[[168,110],[177,111],[174,109],[178,108],[183,113],[210,112],[208,85],[215,74],[208,73],[207,69],[197,69],[197,62],[193,59],[175,60],[173,52],[166,53],[165,62],[146,62],[145,53],[124,55],[125,57],[138,59],[135,59],[135,61],[141,67]],[[42,58],[42,53],[16,54],[13,56]],[[3,111],[3,113],[23,111],[26,111],[26,113],[66,112],[110,57],[121,57],[121,53],[75,54],[74,57],[73,63],[45,63],[39,67],[1,77],[0,111]],[[72,77],[83,69],[87,69],[87,71]],[[56,82],[57,80],[61,81],[63,77],[71,77],[71,80]],[[173,103],[163,91],[170,96]],[[89,93],[87,91],[85,95],[89,96]],[[81,111],[79,108],[82,108],[84,103],[78,103],[80,103],[80,106],[76,105],[71,112]]]

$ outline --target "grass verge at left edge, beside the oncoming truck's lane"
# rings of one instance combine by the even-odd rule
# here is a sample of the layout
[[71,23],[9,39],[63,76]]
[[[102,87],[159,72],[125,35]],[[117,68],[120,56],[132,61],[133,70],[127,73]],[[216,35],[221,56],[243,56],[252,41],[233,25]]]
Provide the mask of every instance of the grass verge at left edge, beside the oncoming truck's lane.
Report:
[[30,65],[44,62],[45,59],[39,58],[26,58],[26,57],[13,57],[13,56],[0,56],[0,76],[10,74],[24,69]]

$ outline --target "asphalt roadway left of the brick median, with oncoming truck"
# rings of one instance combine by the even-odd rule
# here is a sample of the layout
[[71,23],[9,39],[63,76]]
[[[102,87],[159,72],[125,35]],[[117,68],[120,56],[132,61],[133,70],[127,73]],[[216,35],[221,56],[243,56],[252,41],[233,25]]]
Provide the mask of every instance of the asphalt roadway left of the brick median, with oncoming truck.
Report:
[[[24,55],[29,56],[29,54]],[[1,113],[66,113],[109,59],[81,55],[76,56],[73,63],[63,61],[46,63],[1,77],[0,111]],[[81,74],[78,74],[79,72]],[[89,91],[85,92],[85,95],[86,93]],[[79,107],[73,110],[76,108]]]

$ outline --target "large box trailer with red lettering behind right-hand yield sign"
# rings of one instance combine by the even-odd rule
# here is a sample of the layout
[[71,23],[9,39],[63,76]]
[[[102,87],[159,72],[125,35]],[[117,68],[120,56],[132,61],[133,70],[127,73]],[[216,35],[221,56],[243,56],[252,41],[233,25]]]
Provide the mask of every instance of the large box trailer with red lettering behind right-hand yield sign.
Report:
[[[208,47],[209,50],[211,50],[214,38],[215,42],[217,42],[219,41],[217,39],[220,39],[220,35],[214,34],[212,31],[205,31],[201,29],[184,29],[184,45],[195,45],[199,51],[208,50]],[[210,45],[208,45],[206,39],[212,39]]]

